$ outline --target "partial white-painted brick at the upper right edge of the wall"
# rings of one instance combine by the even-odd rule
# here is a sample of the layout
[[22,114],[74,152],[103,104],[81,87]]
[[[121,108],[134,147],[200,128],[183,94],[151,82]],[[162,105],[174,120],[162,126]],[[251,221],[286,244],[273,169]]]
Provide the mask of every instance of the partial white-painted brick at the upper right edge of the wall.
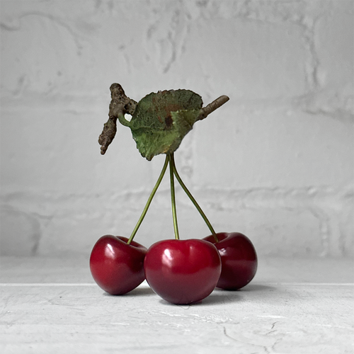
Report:
[[353,3],[336,1],[332,6],[332,11],[321,16],[314,26],[317,87],[314,96],[308,99],[307,110],[353,122]]

